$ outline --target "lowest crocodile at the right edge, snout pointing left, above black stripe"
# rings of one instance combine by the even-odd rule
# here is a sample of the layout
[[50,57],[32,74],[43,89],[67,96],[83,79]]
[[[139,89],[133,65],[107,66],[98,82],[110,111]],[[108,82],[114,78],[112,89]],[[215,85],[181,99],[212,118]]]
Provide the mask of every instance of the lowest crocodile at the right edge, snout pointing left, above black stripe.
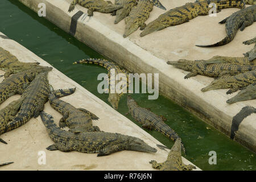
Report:
[[238,92],[238,94],[226,101],[228,104],[234,102],[247,101],[256,99],[256,82],[254,84],[246,86],[245,89]]

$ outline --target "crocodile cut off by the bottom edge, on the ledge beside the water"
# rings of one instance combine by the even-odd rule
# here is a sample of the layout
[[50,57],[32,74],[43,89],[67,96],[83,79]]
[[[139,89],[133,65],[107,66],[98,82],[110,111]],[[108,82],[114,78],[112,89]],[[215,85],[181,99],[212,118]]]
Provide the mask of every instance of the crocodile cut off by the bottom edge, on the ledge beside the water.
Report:
[[185,165],[182,162],[180,138],[175,141],[165,162],[158,163],[155,160],[151,160],[149,163],[152,164],[152,168],[160,169],[160,171],[192,171],[192,169],[196,169],[195,166],[191,164]]

